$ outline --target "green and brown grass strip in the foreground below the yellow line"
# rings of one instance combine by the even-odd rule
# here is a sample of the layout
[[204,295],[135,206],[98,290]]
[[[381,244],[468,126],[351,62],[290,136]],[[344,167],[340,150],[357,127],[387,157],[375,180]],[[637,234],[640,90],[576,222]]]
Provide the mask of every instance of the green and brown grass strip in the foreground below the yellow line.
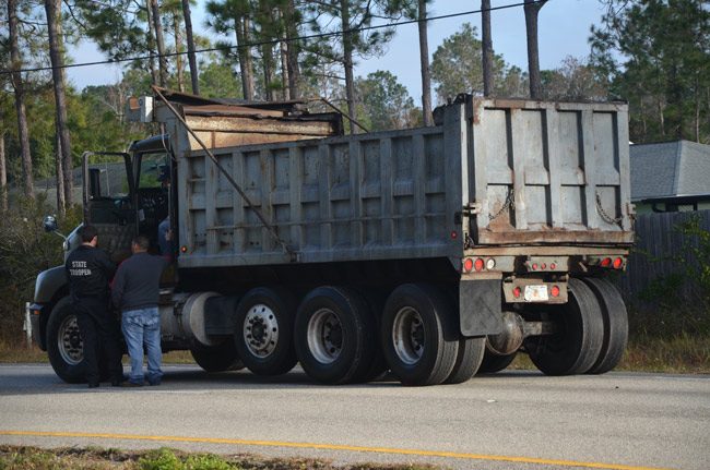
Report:
[[217,456],[170,448],[118,450],[97,447],[40,449],[0,446],[0,470],[437,470],[430,465],[357,463],[335,466],[329,460],[264,458],[251,454]]

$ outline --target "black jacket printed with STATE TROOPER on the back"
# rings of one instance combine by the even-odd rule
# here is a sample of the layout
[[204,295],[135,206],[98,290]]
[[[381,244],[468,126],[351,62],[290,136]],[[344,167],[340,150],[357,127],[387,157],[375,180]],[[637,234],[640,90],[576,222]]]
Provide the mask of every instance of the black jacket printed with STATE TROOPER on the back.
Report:
[[64,269],[72,301],[83,298],[108,300],[108,281],[116,273],[116,264],[104,250],[82,244],[69,254]]

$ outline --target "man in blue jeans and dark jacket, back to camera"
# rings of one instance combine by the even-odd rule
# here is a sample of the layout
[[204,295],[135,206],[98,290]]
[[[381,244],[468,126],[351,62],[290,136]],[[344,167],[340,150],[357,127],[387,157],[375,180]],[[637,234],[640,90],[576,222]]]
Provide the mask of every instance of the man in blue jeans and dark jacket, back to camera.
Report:
[[159,282],[168,262],[147,253],[147,238],[138,236],[131,242],[133,256],[118,268],[111,298],[121,311],[121,329],[131,357],[131,375],[125,385],[141,386],[143,375],[143,345],[147,352],[147,382],[159,385],[161,370],[161,316],[157,303],[161,296]]

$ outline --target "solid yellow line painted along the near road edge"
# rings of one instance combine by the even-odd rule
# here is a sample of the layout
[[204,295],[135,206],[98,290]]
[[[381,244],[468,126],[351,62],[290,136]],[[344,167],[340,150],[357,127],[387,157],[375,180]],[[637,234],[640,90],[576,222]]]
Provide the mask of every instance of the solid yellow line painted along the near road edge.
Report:
[[249,441],[249,439],[228,439],[220,437],[188,437],[188,436],[152,436],[142,434],[114,434],[114,433],[78,433],[78,432],[50,432],[50,431],[3,431],[0,435],[5,436],[37,436],[37,437],[92,437],[102,439],[126,439],[126,441],[161,441],[168,443],[205,443],[205,444],[232,444],[241,446],[261,446],[261,447],[291,447],[301,449],[320,449],[320,450],[347,450],[354,453],[370,454],[399,454],[418,457],[446,457],[465,460],[489,460],[518,463],[540,463],[558,467],[578,467],[607,470],[668,470],[658,467],[635,467],[617,463],[583,462],[575,460],[554,460],[541,459],[534,457],[513,457],[513,456],[495,456],[485,454],[465,454],[450,453],[442,450],[418,450],[418,449],[398,449],[389,447],[363,447],[338,444],[315,444],[315,443],[292,443],[280,441]]

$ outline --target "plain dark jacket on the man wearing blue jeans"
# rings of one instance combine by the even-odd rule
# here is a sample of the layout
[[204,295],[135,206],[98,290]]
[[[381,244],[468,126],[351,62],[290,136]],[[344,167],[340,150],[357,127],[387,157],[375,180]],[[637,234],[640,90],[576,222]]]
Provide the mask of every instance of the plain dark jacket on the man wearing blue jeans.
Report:
[[161,275],[167,260],[147,253],[135,253],[118,267],[111,300],[121,312],[157,306]]

